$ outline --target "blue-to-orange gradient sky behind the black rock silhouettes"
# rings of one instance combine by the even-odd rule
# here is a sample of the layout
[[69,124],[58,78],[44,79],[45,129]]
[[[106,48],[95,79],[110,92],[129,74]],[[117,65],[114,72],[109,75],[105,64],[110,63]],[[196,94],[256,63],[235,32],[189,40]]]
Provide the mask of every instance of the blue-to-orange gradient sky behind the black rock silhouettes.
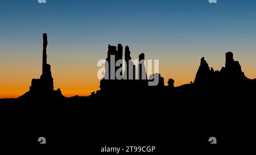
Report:
[[129,45],[159,60],[175,86],[195,79],[201,57],[220,70],[232,51],[243,72],[256,78],[255,0],[1,0],[0,98],[26,93],[42,74],[42,34],[55,89],[66,97],[99,90],[98,60],[108,44]]

